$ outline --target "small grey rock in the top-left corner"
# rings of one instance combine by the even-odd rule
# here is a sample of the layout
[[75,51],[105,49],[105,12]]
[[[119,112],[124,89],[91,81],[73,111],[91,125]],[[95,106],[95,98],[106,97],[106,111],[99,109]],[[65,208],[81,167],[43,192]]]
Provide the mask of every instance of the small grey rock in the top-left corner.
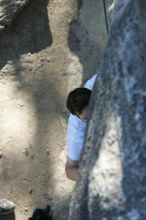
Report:
[[31,0],[0,1],[0,32],[7,27]]

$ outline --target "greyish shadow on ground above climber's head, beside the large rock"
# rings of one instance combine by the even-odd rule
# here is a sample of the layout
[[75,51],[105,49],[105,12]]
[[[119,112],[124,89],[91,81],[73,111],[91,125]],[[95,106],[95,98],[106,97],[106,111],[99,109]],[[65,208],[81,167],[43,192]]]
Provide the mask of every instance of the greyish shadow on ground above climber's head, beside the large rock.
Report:
[[[78,16],[70,22],[68,44],[83,66],[83,82],[97,71],[107,40],[102,1],[77,0]],[[102,21],[102,22],[101,22]]]

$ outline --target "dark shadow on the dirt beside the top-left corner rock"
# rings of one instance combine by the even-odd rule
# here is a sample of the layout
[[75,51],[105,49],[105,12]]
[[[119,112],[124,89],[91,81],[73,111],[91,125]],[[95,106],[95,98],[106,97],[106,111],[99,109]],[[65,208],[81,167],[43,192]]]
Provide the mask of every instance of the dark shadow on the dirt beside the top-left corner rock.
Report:
[[32,1],[13,24],[0,35],[0,69],[9,61],[26,53],[36,53],[51,46],[49,0]]

